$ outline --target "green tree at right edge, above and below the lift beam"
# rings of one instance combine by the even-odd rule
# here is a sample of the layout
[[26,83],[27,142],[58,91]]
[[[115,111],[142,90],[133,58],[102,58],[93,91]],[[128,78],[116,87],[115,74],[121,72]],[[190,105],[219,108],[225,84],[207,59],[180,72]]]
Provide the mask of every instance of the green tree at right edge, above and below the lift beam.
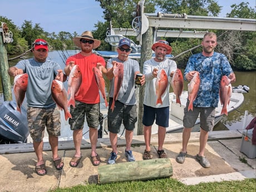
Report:
[[[233,4],[227,17],[256,19],[256,12],[249,3]],[[240,70],[256,70],[256,32],[228,31],[221,36],[220,51]],[[227,41],[228,40],[228,41]]]

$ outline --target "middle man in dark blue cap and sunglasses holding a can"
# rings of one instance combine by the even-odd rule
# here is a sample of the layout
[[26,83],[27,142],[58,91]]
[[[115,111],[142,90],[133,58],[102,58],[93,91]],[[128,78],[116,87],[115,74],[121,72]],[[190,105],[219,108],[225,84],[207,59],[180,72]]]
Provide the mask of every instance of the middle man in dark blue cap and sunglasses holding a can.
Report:
[[[136,98],[135,98],[135,76],[140,73],[139,62],[128,58],[131,52],[131,41],[128,38],[122,38],[117,47],[118,57],[111,58],[107,62],[107,78],[110,80],[109,91],[109,111],[107,114],[107,125],[110,131],[110,142],[112,152],[107,164],[115,164],[117,158],[117,133],[120,132],[122,122],[125,127],[126,149],[125,156],[127,161],[135,161],[132,155],[131,142],[135,122],[137,121]],[[123,70],[119,72],[122,83],[117,93],[117,83],[115,83],[115,69],[124,65]],[[122,67],[121,67],[122,68]],[[121,74],[120,74],[121,73]],[[144,84],[142,76],[141,85]],[[117,93],[117,94],[116,94]],[[113,105],[112,105],[113,104]],[[111,107],[112,105],[112,107]]]

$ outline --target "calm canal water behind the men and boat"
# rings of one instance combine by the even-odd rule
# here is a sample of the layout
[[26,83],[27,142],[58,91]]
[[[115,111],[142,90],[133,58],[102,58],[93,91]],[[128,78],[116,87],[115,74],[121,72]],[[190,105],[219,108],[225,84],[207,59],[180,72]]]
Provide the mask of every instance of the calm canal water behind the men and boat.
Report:
[[[65,60],[67,57],[74,55],[77,53],[77,50],[69,50],[69,51],[52,51],[49,52],[48,56],[58,62],[62,68],[65,67]],[[32,53],[30,53],[27,58],[32,57]],[[9,63],[10,66],[13,66],[18,61],[12,61]],[[248,111],[248,118],[245,125],[248,125],[249,122],[256,115],[256,72],[239,72],[235,71],[235,75],[237,77],[237,81],[232,84],[232,86],[238,85],[247,85],[250,87],[248,93],[244,93],[244,102],[242,106],[240,106],[237,110],[234,110],[228,114],[228,116],[223,116],[221,121],[214,127],[214,130],[241,130],[243,128],[243,120],[244,120],[244,112]],[[13,83],[13,78],[11,78],[11,82]],[[66,83],[66,82],[65,82]],[[65,87],[67,84],[65,84]],[[109,90],[109,83],[106,79],[106,90]],[[185,82],[184,90],[188,90],[188,83]],[[170,91],[173,91],[170,88]],[[2,92],[2,84],[0,86],[0,92]],[[0,93],[0,103],[3,102],[2,93]]]

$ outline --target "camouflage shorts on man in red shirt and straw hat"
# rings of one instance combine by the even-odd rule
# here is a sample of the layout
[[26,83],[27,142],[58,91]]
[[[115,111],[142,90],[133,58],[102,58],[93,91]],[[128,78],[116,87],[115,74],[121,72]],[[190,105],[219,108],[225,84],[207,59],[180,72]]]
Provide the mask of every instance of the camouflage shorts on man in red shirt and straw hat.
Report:
[[70,114],[72,119],[68,120],[71,130],[83,129],[85,124],[85,116],[88,127],[98,129],[100,105],[99,104],[85,104],[80,101],[75,101],[75,108],[70,106]]

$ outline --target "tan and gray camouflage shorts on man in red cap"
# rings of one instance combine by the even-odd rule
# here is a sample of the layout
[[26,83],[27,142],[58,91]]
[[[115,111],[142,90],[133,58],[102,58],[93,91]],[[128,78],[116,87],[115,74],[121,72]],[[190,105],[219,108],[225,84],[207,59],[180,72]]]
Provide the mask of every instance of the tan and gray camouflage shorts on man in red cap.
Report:
[[40,142],[45,134],[61,135],[60,110],[58,108],[44,109],[28,107],[27,109],[28,129],[33,141]]

